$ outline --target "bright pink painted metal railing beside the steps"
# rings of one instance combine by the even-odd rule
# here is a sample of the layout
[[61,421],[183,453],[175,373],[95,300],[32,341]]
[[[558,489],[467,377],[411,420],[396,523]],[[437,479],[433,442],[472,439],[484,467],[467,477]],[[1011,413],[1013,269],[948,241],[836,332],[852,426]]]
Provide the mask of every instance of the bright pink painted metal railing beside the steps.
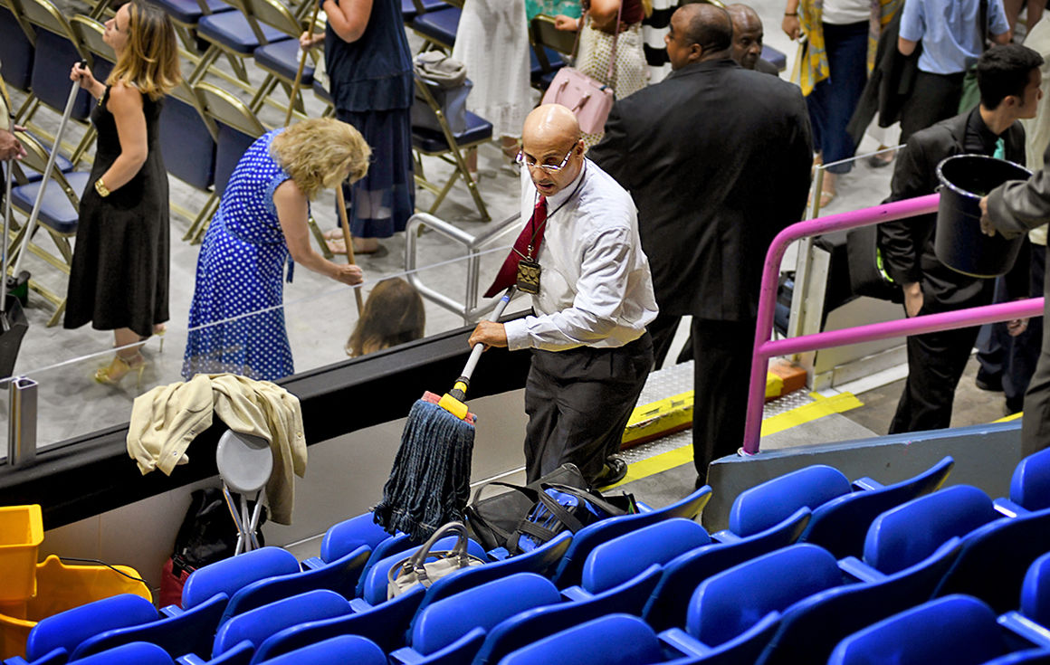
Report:
[[1031,298],[959,312],[924,315],[900,321],[873,323],[843,330],[803,335],[783,340],[773,341],[771,339],[773,336],[773,313],[777,301],[777,277],[788,245],[795,240],[831,231],[857,229],[858,227],[937,212],[939,200],[939,194],[930,194],[875,208],[800,221],[788,227],[774,238],[770,251],[765,255],[761,294],[758,298],[758,326],[755,329],[755,349],[748,388],[748,422],[743,432],[744,454],[753,455],[758,452],[758,443],[762,431],[762,405],[765,402],[765,372],[769,369],[771,358],[884,340],[891,337],[922,335],[933,330],[965,328],[972,325],[1043,315],[1043,298]]

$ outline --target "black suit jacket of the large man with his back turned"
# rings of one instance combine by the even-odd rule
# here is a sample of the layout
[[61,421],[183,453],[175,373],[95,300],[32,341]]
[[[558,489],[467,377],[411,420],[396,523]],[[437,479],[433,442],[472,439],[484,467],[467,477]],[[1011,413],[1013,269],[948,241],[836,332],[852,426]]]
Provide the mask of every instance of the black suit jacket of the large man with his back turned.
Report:
[[616,102],[587,156],[634,198],[660,314],[755,318],[770,241],[802,218],[810,186],[798,86],[693,63]]

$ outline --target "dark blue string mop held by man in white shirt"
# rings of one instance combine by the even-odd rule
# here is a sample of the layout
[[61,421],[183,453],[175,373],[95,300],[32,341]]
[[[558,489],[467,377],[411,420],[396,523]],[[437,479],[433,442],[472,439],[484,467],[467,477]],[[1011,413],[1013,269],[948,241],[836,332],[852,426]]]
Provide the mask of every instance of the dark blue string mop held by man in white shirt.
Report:
[[[490,321],[500,318],[513,293],[513,286],[507,288]],[[440,398],[424,392],[412,406],[383,499],[373,509],[376,523],[387,532],[423,541],[442,524],[463,519],[477,421],[463,400],[483,350],[483,344],[474,345],[450,391]]]

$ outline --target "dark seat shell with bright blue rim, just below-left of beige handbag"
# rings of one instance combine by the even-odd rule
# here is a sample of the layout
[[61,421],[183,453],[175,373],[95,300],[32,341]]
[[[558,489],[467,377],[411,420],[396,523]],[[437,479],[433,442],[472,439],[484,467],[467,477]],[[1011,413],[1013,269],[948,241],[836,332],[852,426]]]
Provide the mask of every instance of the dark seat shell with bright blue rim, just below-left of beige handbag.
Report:
[[352,614],[303,622],[280,630],[259,645],[252,665],[340,635],[359,635],[378,644],[383,651],[393,651],[404,646],[408,623],[425,592],[422,586],[417,586],[375,607],[360,610],[354,607],[352,601]]

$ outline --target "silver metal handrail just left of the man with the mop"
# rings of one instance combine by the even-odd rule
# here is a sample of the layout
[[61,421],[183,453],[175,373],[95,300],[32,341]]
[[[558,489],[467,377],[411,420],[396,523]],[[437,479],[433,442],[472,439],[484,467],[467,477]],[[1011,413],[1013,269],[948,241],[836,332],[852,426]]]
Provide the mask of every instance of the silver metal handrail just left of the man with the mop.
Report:
[[[405,276],[406,279],[419,291],[420,295],[427,300],[437,303],[449,312],[454,312],[462,316],[464,325],[478,321],[481,317],[490,312],[499,300],[496,299],[483,306],[478,306],[478,280],[480,278],[479,270],[481,264],[482,249],[491,243],[499,236],[506,233],[520,217],[520,213],[514,213],[512,216],[495,224],[484,233],[474,235],[447,221],[444,221],[443,219],[438,219],[428,213],[417,213],[413,215],[408,218],[408,222],[404,230],[404,270],[405,273],[407,273]],[[459,242],[466,249],[466,294],[463,302],[427,286],[420,279],[419,271],[416,270],[416,253],[419,243],[419,234],[422,232],[423,228],[430,229],[435,233]]]

